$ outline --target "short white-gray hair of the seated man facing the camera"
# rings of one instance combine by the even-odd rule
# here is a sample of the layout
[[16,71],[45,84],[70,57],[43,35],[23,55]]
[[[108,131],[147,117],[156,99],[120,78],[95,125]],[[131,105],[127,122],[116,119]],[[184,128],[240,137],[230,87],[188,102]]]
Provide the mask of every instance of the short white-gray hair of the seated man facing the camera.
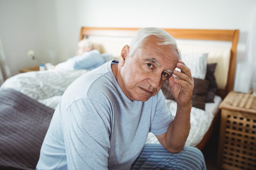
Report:
[[132,56],[134,52],[143,45],[143,42],[147,37],[150,35],[155,35],[158,38],[158,45],[173,45],[175,49],[177,49],[178,58],[181,59],[181,53],[179,48],[177,47],[177,43],[174,40],[173,36],[171,36],[168,32],[164,31],[163,29],[156,28],[156,27],[148,27],[139,29],[133,36],[129,47],[130,52],[129,55]]

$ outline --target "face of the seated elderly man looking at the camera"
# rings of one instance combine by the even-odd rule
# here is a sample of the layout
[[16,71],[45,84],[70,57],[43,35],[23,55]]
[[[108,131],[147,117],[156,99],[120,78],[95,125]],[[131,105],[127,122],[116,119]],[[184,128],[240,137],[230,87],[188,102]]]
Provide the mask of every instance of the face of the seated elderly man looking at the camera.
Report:
[[130,100],[145,102],[158,93],[177,62],[173,45],[158,45],[156,37],[150,36],[134,55],[124,57],[120,86]]

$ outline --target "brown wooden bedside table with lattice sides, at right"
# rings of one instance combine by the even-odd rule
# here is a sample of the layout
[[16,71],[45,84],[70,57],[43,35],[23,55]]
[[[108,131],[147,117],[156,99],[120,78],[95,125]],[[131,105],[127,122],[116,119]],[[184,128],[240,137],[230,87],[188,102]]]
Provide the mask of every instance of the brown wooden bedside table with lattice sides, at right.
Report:
[[256,96],[230,92],[220,104],[218,167],[256,170]]

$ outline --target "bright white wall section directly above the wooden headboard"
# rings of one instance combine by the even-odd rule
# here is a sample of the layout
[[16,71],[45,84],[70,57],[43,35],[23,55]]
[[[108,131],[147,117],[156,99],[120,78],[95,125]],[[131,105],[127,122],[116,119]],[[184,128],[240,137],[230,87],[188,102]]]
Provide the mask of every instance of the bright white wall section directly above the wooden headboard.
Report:
[[255,0],[78,0],[79,25],[187,29],[239,29],[237,61],[245,44]]

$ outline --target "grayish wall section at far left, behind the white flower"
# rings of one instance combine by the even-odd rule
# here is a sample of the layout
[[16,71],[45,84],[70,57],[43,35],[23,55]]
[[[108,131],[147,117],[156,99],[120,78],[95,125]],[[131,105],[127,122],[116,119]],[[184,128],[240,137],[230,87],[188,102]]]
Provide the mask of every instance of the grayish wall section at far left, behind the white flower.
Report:
[[20,68],[36,65],[27,57],[29,49],[40,54],[36,1],[0,0],[0,39],[5,78],[17,74]]

